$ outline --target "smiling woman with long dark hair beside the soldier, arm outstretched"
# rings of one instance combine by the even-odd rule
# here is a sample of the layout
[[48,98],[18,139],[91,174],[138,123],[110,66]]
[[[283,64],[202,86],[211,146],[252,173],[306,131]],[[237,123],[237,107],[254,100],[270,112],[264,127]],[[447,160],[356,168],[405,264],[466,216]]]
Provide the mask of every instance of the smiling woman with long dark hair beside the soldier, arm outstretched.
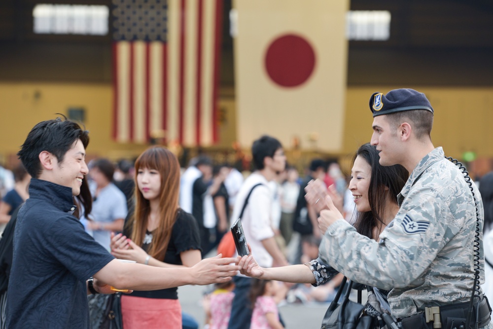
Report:
[[[349,184],[356,206],[354,227],[358,233],[377,241],[380,233],[399,211],[397,194],[409,176],[403,166],[384,167],[379,164],[379,159],[375,146],[369,143],[360,146],[353,158],[352,177]],[[307,199],[310,199],[308,201],[318,208],[317,212],[320,212],[324,202],[319,202],[319,200],[324,197],[324,193],[326,194],[326,189],[321,188],[320,182],[316,181],[312,184],[314,184],[311,187],[312,196]],[[314,195],[317,195],[315,200]],[[317,286],[327,282],[338,273],[329,265],[324,264],[320,258],[306,264],[262,268],[250,255],[244,256],[239,263],[243,266],[241,272],[251,277],[311,283]],[[383,295],[385,296],[385,292]]]

